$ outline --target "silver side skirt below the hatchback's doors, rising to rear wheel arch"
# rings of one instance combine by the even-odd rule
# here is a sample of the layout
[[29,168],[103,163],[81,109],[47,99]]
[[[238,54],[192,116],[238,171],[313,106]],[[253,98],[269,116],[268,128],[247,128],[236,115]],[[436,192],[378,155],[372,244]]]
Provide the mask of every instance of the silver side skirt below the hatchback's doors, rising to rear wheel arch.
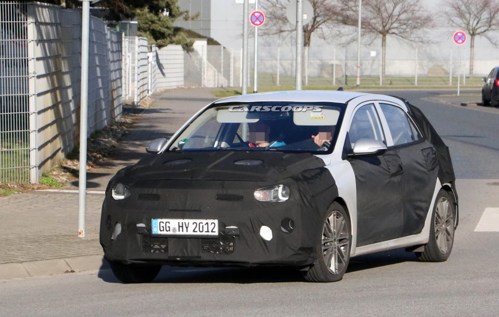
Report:
[[[432,203],[430,205],[430,209],[426,215],[425,226],[420,233],[414,234],[407,237],[397,238],[393,240],[378,242],[374,244],[365,245],[362,247],[355,248],[355,254],[351,254],[350,257],[355,257],[363,254],[369,254],[374,252],[381,252],[387,250],[393,250],[398,248],[410,247],[415,245],[421,245],[428,243],[428,239],[430,237],[430,226],[432,225],[432,214],[433,207],[435,205],[435,199],[437,199],[438,192],[442,188],[442,184],[440,183],[440,179],[437,178],[437,184],[435,185],[435,191],[433,192]],[[353,250],[352,250],[353,251]]]

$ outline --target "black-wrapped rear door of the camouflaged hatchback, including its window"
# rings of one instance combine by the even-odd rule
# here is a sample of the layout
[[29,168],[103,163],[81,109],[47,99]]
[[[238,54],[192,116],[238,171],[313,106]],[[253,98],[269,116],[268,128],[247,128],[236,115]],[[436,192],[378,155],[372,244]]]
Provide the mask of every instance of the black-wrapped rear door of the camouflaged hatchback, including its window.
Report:
[[401,107],[380,102],[382,121],[390,134],[388,147],[402,161],[403,222],[402,236],[420,233],[430,208],[437,181],[438,160],[433,145],[419,133],[415,124]]

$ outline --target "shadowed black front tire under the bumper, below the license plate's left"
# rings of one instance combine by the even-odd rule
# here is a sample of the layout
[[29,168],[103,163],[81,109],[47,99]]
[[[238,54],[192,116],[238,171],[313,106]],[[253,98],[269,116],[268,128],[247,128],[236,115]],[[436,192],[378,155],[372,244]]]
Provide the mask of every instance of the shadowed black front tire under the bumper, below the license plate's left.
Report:
[[114,276],[125,284],[149,283],[158,275],[161,265],[139,266],[136,264],[123,264],[109,262]]

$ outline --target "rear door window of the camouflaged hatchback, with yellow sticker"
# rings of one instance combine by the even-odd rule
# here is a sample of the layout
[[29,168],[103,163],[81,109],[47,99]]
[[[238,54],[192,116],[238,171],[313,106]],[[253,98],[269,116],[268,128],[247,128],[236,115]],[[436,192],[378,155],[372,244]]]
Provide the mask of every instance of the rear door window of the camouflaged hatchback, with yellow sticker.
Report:
[[421,135],[404,110],[389,104],[379,104],[388,123],[393,145],[402,145],[418,141]]

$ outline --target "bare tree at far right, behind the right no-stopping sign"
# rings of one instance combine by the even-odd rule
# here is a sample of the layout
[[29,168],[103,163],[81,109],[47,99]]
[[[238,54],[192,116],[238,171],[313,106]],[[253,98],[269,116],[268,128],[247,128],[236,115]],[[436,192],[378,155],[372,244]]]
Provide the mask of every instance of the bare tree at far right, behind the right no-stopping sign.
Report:
[[498,0],[446,0],[448,9],[444,12],[451,24],[464,28],[470,35],[470,76],[473,75],[475,59],[475,37],[499,30]]

